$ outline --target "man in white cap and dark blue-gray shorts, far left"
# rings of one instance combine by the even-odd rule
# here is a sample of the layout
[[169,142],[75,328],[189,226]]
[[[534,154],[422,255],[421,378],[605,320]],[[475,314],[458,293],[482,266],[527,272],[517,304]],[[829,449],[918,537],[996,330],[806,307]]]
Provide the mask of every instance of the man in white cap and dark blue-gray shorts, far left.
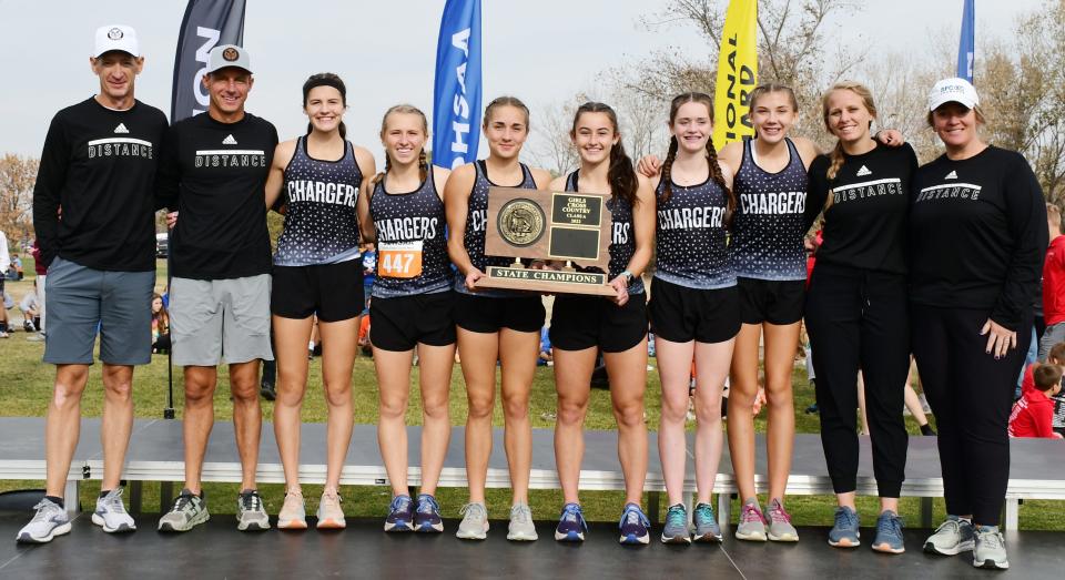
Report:
[[100,92],[52,119],[33,189],[33,225],[49,277],[44,362],[55,365],[55,385],[44,423],[45,498],[19,531],[22,542],[70,531],[61,496],[98,328],[104,471],[92,521],[108,532],[135,529],[119,480],[133,426],[133,366],[152,357],[154,181],[166,116],[133,98],[144,58],[132,28],[98,29],[89,62]]

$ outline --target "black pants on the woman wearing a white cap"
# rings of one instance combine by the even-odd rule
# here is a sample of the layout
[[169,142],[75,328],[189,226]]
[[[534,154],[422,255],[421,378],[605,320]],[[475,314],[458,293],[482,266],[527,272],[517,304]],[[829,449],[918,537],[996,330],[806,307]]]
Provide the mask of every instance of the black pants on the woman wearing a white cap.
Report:
[[997,526],[1010,481],[1006,427],[1032,318],[1021,322],[1017,347],[996,360],[980,335],[987,311],[912,305],[911,312],[913,355],[940,435],[946,512]]

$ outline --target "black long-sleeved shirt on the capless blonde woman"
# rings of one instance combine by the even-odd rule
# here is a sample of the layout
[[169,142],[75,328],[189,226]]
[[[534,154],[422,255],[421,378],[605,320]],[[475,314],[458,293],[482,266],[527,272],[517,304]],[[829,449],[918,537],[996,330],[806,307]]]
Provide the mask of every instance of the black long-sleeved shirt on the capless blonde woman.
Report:
[[810,164],[807,223],[824,207],[831,191],[832,205],[824,212],[824,241],[818,248],[818,264],[906,273],[906,214],[910,187],[917,170],[913,147],[903,144],[876,146],[861,155],[843,155],[835,179],[826,172],[832,164],[820,155]]

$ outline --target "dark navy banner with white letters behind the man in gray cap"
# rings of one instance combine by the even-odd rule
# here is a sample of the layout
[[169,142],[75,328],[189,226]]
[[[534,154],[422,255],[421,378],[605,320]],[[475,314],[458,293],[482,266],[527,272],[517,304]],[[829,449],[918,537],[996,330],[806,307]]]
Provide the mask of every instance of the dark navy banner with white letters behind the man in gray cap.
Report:
[[244,45],[245,0],[189,0],[178,35],[170,122],[207,110],[210,96],[201,79],[207,53],[219,44]]

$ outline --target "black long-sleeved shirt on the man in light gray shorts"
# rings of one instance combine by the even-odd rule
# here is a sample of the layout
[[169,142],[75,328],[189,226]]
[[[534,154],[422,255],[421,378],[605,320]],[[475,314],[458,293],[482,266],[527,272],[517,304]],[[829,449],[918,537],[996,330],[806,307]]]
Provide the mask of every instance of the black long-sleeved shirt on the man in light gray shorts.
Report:
[[164,204],[178,210],[174,276],[227,279],[271,271],[264,201],[277,130],[251,113],[235,123],[202,113],[166,133],[160,165]]

